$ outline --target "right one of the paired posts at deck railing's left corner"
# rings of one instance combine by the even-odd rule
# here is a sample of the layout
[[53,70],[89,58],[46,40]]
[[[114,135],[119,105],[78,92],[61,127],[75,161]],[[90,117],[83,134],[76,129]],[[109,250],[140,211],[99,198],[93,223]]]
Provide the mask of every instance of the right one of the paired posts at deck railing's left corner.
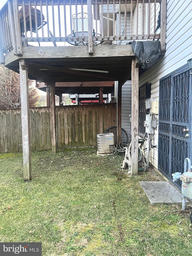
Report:
[[20,29],[20,22],[19,22],[19,7],[18,7],[17,0],[13,0],[13,13],[14,13],[14,23],[15,23],[17,54],[22,55],[21,29]]

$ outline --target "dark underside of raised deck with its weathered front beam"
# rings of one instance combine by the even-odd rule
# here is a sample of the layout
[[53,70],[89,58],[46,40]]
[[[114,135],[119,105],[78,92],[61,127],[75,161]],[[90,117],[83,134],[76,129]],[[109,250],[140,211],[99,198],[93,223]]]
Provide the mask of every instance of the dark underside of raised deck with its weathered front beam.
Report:
[[19,72],[19,59],[25,59],[29,79],[50,86],[56,82],[92,81],[119,81],[123,84],[131,79],[134,56],[131,45],[93,46],[93,49],[93,55],[89,55],[86,46],[22,47],[23,55],[15,56],[13,51],[7,53],[4,65]]

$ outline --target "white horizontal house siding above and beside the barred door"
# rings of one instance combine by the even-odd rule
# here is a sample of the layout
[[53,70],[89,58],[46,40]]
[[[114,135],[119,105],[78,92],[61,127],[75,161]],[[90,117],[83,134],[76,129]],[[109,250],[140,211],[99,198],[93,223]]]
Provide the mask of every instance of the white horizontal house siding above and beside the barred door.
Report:
[[[192,57],[192,2],[167,1],[166,53],[162,60],[147,70],[140,78],[139,85],[151,83],[151,97],[159,100],[159,80],[186,65]],[[154,130],[152,145],[158,146],[158,128]],[[158,148],[151,149],[150,162],[158,168]]]

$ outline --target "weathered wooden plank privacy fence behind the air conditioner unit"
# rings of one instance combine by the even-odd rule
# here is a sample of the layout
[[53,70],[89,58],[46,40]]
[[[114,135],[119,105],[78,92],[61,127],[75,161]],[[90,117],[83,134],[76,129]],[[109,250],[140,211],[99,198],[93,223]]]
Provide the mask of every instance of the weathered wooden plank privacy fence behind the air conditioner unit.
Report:
[[[31,150],[50,150],[50,107],[30,108]],[[97,146],[97,134],[116,126],[116,103],[56,107],[57,148]],[[0,110],[0,152],[22,152],[21,109]]]

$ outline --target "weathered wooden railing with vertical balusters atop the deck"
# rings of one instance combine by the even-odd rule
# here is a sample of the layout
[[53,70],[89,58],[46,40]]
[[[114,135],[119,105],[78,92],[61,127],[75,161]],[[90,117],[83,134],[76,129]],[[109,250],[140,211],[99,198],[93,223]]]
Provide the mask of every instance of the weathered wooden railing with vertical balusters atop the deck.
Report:
[[165,31],[165,0],[10,0],[0,12],[0,58],[28,43],[88,45],[91,53],[103,41],[160,39],[160,5]]

